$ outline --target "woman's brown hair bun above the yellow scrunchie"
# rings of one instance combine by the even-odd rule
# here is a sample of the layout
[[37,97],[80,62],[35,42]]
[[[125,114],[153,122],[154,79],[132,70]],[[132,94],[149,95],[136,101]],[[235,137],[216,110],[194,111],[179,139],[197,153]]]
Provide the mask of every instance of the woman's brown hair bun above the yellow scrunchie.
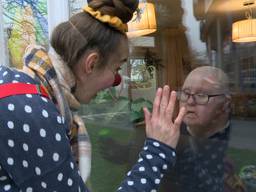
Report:
[[138,0],[87,0],[88,6],[104,15],[116,16],[127,23],[138,7]]

